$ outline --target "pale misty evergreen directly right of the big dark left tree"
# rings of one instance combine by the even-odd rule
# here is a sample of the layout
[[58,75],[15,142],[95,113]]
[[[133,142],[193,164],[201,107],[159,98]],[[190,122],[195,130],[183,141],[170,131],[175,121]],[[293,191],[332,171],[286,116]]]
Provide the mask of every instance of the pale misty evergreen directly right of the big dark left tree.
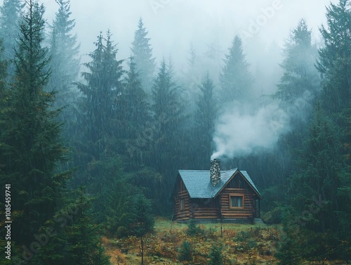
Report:
[[[70,19],[69,1],[58,0],[58,12],[51,27],[51,78],[48,91],[55,91],[55,106],[67,107],[74,102],[72,83],[77,81],[80,59],[77,34],[72,35],[75,21]],[[62,120],[73,119],[72,110],[63,110]]]

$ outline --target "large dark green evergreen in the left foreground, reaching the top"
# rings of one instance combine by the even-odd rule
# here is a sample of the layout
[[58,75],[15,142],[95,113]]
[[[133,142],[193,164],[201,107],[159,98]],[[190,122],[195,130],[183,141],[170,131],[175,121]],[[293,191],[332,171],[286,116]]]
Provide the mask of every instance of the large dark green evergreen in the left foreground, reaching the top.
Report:
[[18,244],[34,240],[60,202],[70,172],[55,173],[67,149],[60,141],[53,93],[44,91],[49,78],[47,49],[42,47],[44,6],[29,1],[15,49],[15,83],[6,91],[7,108],[0,113],[1,186],[11,183],[11,210],[17,213],[11,238]]

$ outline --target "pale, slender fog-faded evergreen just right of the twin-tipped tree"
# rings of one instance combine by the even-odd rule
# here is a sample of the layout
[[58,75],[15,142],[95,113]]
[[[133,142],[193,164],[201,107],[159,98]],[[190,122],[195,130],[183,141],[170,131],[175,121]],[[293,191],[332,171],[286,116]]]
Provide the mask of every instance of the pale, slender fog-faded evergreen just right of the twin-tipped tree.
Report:
[[136,70],[140,75],[142,87],[147,92],[150,92],[152,89],[154,71],[156,68],[155,59],[152,57],[152,48],[149,41],[150,38],[147,38],[147,31],[144,27],[143,20],[140,18],[138,22],[138,30],[135,30],[131,51]]

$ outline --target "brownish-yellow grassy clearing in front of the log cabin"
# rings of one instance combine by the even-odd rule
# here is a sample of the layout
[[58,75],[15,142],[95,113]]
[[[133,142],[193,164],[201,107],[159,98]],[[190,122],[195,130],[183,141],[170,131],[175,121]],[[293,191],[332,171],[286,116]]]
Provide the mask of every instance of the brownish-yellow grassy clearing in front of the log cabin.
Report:
[[[155,220],[154,233],[145,237],[145,264],[208,264],[213,247],[221,251],[223,264],[277,264],[277,247],[282,236],[282,226],[266,224],[199,224],[194,235],[189,235],[189,225],[165,218]],[[182,245],[190,243],[191,260],[180,261]],[[140,264],[140,239],[102,238],[106,254],[113,265]],[[183,256],[182,256],[183,254]],[[214,264],[214,263],[213,263]],[[346,264],[344,261],[303,261],[301,264]]]

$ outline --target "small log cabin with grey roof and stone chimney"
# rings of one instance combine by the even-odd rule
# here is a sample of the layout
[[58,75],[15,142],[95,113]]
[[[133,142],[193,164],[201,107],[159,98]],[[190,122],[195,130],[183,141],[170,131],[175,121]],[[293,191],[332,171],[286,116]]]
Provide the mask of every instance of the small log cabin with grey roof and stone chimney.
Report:
[[172,199],[173,221],[252,223],[262,196],[246,171],[220,172],[213,160],[210,170],[178,170]]

